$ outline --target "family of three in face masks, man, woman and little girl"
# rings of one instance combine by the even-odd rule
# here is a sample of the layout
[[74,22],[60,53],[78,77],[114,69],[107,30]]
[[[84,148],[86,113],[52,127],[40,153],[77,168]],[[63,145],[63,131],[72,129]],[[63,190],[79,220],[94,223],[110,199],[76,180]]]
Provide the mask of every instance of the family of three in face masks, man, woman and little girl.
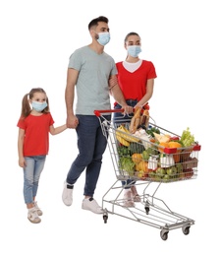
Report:
[[[63,203],[72,205],[74,185],[85,171],[82,208],[102,214],[103,209],[94,199],[94,192],[107,140],[93,110],[123,108],[125,115],[131,116],[134,108],[144,108],[153,94],[156,73],[152,62],[138,58],[141,51],[138,33],[127,34],[124,42],[127,57],[125,61],[115,63],[104,51],[110,40],[109,31],[106,17],[93,19],[88,24],[91,42],[75,50],[70,57],[65,89],[66,124],[54,127],[48,96],[43,89],[31,89],[23,98],[18,122],[19,165],[24,170],[27,219],[33,224],[40,223],[43,214],[37,205],[36,194],[49,150],[49,133],[56,135],[67,128],[77,132],[79,153],[70,163],[64,178]],[[111,105],[111,96],[115,100],[114,106]],[[111,120],[111,114],[105,118]],[[133,207],[139,200],[135,182],[127,181],[123,186],[125,207]]]

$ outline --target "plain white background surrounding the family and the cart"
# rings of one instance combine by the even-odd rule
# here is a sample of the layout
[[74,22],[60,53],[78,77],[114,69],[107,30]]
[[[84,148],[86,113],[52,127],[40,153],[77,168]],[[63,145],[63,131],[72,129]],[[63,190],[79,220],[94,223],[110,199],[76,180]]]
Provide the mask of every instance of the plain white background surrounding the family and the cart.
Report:
[[[217,4],[217,0],[0,2],[1,255],[192,255],[219,250]],[[76,48],[90,43],[87,24],[100,15],[109,18],[111,41],[105,51],[115,61],[126,57],[128,32],[141,36],[139,57],[151,60],[158,76],[150,115],[177,134],[190,127],[201,145],[197,178],[164,184],[158,191],[174,212],[195,220],[189,235],[175,229],[163,241],[159,229],[114,215],[104,224],[101,216],[81,209],[84,175],[75,186],[73,206],[64,206],[63,181],[78,153],[75,130],[50,137],[37,195],[44,215],[41,224],[27,221],[17,153],[22,97],[33,87],[44,88],[55,126],[65,123],[68,59]],[[99,203],[115,180],[106,151],[95,191]]]

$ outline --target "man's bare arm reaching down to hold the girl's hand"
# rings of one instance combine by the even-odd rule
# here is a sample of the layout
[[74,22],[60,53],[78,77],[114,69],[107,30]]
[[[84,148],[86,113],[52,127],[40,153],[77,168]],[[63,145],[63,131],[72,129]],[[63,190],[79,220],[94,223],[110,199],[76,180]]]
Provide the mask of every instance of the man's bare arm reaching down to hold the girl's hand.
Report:
[[65,90],[65,101],[67,109],[67,127],[76,128],[78,118],[74,114],[75,86],[78,80],[79,71],[69,68],[67,73],[67,86]]

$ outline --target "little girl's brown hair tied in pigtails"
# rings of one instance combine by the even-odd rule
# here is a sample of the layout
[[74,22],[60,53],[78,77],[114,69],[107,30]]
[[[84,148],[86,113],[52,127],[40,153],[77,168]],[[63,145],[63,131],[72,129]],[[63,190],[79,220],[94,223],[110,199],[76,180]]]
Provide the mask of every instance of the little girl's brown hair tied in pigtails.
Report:
[[[46,93],[45,91],[42,89],[42,88],[32,88],[30,90],[30,92],[28,94],[26,94],[24,97],[23,97],[23,101],[22,101],[22,113],[21,113],[21,117],[22,118],[26,118],[30,112],[31,112],[31,107],[29,105],[29,101],[28,99],[32,99],[33,95],[35,93],[42,93],[42,94],[45,94],[46,96]],[[48,97],[46,96],[46,102],[47,102],[47,107],[45,107],[41,112],[42,113],[48,113],[50,110],[49,110],[49,100],[48,100]]]

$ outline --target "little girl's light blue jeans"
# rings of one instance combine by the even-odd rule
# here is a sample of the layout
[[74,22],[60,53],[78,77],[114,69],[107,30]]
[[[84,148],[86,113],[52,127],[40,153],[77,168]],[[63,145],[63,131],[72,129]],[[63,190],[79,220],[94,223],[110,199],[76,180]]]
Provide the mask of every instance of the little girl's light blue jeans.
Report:
[[31,204],[36,196],[39,177],[43,170],[46,156],[26,157],[24,167],[24,198],[26,204]]

